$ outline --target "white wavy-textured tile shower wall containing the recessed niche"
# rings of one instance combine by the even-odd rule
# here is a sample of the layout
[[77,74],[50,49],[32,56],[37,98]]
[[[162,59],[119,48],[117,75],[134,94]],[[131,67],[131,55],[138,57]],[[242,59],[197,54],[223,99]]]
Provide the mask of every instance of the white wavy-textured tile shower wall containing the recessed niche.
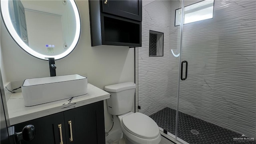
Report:
[[[139,112],[153,114],[166,107],[168,84],[169,1],[142,1],[142,47],[138,48]],[[164,33],[164,56],[149,57],[149,30]]]

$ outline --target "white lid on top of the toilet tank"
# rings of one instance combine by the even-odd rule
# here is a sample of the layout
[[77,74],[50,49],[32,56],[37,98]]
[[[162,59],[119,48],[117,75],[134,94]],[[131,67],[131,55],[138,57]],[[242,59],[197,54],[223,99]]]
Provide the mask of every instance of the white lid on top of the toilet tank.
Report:
[[120,92],[123,90],[130,90],[135,88],[135,84],[133,82],[124,82],[124,83],[120,83],[120,84],[112,84],[109,86],[105,86],[104,90],[106,90],[107,92]]

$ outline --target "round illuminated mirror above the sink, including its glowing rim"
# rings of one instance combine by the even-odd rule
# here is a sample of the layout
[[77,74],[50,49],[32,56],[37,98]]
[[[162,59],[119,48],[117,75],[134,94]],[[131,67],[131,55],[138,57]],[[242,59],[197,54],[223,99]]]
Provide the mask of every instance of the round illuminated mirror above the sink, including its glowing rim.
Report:
[[80,36],[74,0],[1,0],[1,14],[14,41],[43,60],[64,58]]

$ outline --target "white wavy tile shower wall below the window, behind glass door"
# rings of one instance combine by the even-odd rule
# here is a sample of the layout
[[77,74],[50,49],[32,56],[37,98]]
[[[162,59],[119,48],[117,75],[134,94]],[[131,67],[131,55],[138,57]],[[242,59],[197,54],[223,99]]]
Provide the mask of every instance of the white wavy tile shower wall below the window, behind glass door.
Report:
[[[170,32],[177,30],[174,14],[172,9]],[[179,99],[181,112],[254,138],[255,14],[256,1],[215,0],[213,19],[184,25],[182,60],[188,61],[188,78],[180,82]],[[175,64],[170,60],[170,64]],[[176,108],[178,81],[170,78],[177,74],[177,70],[168,72],[171,108]]]

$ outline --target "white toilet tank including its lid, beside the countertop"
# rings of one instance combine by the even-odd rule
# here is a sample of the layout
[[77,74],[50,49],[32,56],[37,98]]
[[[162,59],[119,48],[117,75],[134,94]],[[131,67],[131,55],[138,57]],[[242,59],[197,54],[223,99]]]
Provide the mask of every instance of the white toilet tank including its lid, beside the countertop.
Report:
[[110,98],[107,99],[110,114],[120,115],[132,110],[135,95],[133,82],[105,86],[104,90],[111,94]]

